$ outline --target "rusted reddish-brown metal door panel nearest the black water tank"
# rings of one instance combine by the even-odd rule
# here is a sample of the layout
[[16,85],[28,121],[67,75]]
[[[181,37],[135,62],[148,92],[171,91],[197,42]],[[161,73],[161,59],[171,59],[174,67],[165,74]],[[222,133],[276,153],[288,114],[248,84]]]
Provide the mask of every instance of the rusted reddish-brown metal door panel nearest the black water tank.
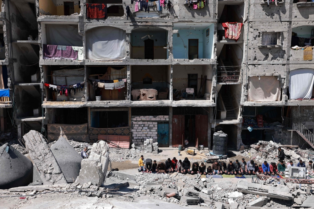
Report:
[[207,147],[207,131],[208,131],[208,116],[195,115],[195,138],[198,139],[198,145]]

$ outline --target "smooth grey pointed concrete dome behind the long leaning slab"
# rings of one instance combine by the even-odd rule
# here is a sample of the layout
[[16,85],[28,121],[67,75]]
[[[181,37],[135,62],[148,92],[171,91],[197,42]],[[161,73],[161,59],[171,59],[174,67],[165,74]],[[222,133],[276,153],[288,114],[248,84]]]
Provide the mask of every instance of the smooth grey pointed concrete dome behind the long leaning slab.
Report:
[[83,158],[63,137],[60,137],[50,149],[67,182],[73,183],[78,177]]

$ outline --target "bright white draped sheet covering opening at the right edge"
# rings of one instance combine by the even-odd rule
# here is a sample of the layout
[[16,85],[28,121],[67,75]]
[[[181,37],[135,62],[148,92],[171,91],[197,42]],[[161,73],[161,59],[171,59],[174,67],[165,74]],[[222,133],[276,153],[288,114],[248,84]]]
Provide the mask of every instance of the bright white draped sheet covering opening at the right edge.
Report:
[[302,68],[292,70],[289,77],[289,99],[311,99],[314,69]]

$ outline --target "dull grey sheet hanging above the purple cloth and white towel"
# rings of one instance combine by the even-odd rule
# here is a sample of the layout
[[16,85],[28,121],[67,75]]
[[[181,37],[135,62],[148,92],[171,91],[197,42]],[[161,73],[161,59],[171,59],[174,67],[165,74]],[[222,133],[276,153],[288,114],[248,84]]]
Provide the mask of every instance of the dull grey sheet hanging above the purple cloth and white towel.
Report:
[[48,45],[83,46],[78,25],[46,24],[46,41]]

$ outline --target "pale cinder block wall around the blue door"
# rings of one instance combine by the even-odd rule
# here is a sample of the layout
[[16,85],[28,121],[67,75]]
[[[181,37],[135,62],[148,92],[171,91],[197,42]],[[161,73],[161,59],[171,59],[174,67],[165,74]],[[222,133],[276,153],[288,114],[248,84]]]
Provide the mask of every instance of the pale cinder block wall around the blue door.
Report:
[[144,147],[146,139],[153,139],[153,143],[157,142],[158,122],[166,121],[169,121],[168,115],[132,116],[132,143],[137,147]]

